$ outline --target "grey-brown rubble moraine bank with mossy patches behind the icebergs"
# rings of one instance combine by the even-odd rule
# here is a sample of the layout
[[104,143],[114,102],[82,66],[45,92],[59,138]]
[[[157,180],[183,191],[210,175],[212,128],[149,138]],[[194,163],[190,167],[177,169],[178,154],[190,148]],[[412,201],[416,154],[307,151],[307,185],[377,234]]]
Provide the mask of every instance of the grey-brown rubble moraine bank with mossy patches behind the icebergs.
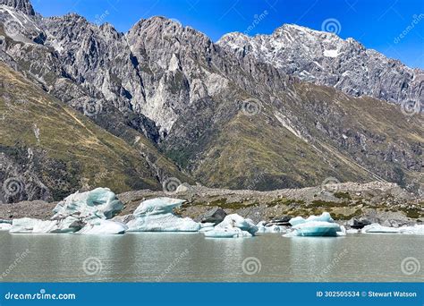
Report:
[[[269,221],[284,216],[308,217],[328,211],[338,223],[364,219],[386,226],[422,224],[424,200],[395,183],[339,183],[277,191],[233,191],[203,186],[181,185],[177,191],[129,191],[118,195],[125,208],[120,216],[131,215],[142,200],[170,197],[187,200],[177,213],[199,221],[210,209],[223,208],[253,221]],[[0,219],[20,217],[49,219],[57,202],[42,200],[0,204]]]

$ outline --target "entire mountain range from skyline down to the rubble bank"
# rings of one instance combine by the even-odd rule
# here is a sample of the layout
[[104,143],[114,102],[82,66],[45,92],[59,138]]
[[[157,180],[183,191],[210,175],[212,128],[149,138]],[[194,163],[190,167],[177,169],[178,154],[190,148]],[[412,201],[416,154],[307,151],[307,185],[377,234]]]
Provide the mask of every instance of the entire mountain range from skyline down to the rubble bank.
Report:
[[214,43],[163,17],[121,33],[29,0],[0,0],[0,23],[2,201],[422,186],[424,72],[352,38],[284,25]]

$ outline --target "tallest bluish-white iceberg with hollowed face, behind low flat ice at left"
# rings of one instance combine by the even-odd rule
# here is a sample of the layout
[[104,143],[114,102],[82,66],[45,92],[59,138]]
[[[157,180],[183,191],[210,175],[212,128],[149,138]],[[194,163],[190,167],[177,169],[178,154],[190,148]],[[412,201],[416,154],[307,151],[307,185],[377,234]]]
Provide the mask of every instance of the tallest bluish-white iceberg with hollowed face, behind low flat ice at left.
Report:
[[84,219],[110,219],[123,209],[123,203],[108,188],[93,191],[76,192],[60,201],[53,209],[54,218],[68,216]]

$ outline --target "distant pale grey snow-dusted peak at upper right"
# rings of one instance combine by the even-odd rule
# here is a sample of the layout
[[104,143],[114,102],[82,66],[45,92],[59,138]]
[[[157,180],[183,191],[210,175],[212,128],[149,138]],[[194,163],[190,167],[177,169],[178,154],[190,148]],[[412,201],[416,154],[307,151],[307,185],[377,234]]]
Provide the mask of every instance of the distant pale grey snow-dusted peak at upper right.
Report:
[[249,37],[230,33],[219,46],[240,57],[254,56],[287,74],[353,96],[370,96],[391,103],[424,101],[424,72],[411,69],[358,41],[285,24],[272,35]]

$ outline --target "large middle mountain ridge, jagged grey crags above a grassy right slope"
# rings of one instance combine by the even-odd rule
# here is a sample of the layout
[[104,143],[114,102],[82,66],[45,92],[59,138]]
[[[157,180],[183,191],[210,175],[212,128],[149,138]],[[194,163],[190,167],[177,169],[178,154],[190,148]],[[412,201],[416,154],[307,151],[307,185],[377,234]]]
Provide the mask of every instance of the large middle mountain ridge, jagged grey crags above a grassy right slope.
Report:
[[[150,142],[141,155],[159,183],[179,175],[166,157],[211,187],[269,190],[329,176],[420,183],[420,115],[300,81],[296,69],[264,63],[224,40],[216,45],[165,18],[141,20],[123,34],[76,14],[8,10],[0,7],[2,61],[127,143],[144,135]],[[384,61],[377,64],[386,69]],[[330,64],[320,75],[338,73]]]

